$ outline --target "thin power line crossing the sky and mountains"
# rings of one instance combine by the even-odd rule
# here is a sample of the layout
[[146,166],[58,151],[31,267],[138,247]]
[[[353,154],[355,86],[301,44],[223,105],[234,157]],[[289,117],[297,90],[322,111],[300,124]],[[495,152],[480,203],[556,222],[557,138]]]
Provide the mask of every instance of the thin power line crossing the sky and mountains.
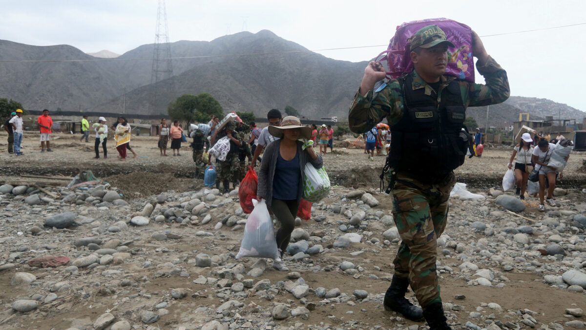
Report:
[[[544,30],[551,30],[551,29],[560,29],[560,28],[567,28],[570,26],[578,26],[578,25],[586,25],[585,23],[576,23],[570,25],[561,25],[561,26],[553,26],[551,28],[542,28],[542,29],[533,29],[533,30],[526,30],[526,31],[515,31],[515,32],[505,32],[505,33],[498,33],[494,35],[483,35],[480,36],[481,38],[486,38],[490,36],[502,36],[502,35],[512,35],[516,33],[526,33],[526,32],[535,32],[535,31],[544,31]],[[351,46],[351,47],[338,47],[338,48],[323,48],[323,49],[307,49],[307,50],[288,50],[284,52],[263,52],[263,53],[240,53],[240,54],[221,54],[221,55],[200,55],[200,56],[178,56],[178,57],[168,57],[168,58],[161,58],[161,59],[200,59],[200,58],[229,58],[229,57],[236,57],[236,56],[253,56],[253,55],[275,55],[275,54],[293,54],[293,53],[307,53],[307,52],[325,52],[328,50],[343,50],[343,49],[360,49],[360,48],[374,48],[374,47],[386,47],[389,45],[372,45],[372,46]],[[152,60],[152,58],[130,58],[130,59],[120,59],[120,58],[113,58],[113,59],[69,59],[69,60],[0,60],[2,62],[19,62],[19,63],[39,63],[39,62],[111,62],[111,61],[132,61],[132,60]]]

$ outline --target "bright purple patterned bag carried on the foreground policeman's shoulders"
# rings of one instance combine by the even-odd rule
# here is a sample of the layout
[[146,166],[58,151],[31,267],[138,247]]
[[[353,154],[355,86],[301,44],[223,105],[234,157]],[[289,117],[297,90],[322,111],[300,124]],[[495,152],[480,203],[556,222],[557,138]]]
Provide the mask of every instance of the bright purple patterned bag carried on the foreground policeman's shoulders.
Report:
[[410,57],[410,38],[428,25],[437,25],[444,31],[448,41],[454,44],[454,48],[448,48],[448,67],[445,74],[474,82],[474,60],[472,55],[472,29],[462,23],[447,18],[432,18],[422,21],[405,22],[397,26],[397,31],[389,43],[389,47],[377,56],[385,54],[389,66],[387,75],[391,79],[399,78],[403,73],[413,71],[413,62]]

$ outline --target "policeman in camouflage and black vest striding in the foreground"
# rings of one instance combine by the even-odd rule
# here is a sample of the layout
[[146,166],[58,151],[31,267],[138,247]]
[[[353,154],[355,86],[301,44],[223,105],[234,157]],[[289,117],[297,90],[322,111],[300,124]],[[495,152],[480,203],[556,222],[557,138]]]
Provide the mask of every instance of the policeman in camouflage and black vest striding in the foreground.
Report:
[[[393,215],[402,241],[384,308],[409,319],[425,318],[431,329],[450,329],[435,268],[436,239],[447,223],[453,169],[464,161],[468,144],[459,139],[465,109],[503,102],[510,92],[505,70],[488,55],[475,32],[472,40],[476,68],[486,85],[444,75],[447,49],[453,45],[438,26],[425,26],[411,39],[413,72],[383,83],[383,66],[370,62],[348,115],[355,133],[367,132],[386,117],[393,134],[387,191],[393,193]],[[409,285],[423,309],[405,298]]]

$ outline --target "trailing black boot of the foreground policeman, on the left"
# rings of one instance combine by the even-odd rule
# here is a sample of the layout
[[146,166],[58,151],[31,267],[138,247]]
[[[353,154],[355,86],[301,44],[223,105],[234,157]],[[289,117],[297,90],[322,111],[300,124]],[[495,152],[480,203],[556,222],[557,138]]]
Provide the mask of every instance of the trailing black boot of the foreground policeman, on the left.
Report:
[[391,286],[387,289],[386,294],[384,294],[384,309],[386,311],[397,312],[411,321],[421,321],[423,320],[423,310],[411,304],[405,298],[408,287],[409,280],[407,278],[393,276]]

